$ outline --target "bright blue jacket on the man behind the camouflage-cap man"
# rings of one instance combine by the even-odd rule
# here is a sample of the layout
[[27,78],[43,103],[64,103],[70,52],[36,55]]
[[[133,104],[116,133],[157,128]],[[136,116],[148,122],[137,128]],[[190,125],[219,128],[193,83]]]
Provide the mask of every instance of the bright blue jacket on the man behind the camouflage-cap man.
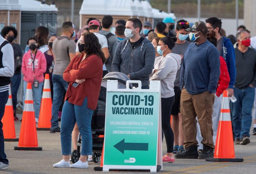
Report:
[[236,54],[229,38],[223,37],[221,56],[225,59],[228,67],[230,82],[228,88],[233,89],[236,81]]

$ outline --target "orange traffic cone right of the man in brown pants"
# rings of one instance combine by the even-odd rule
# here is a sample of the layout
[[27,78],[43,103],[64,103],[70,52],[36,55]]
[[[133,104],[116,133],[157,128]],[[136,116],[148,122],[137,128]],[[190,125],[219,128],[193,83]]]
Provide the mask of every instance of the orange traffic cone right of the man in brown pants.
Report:
[[244,160],[235,158],[228,91],[223,92],[214,158],[205,158],[205,160],[217,162],[243,162]]

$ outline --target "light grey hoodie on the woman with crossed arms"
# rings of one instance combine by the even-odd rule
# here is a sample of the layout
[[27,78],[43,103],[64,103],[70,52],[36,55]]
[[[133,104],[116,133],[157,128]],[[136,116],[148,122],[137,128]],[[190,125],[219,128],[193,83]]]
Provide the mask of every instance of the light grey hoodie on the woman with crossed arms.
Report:
[[[169,53],[165,57],[159,56],[155,60],[154,69],[150,74],[150,80],[160,80],[161,98],[174,96],[174,81],[177,70],[181,67],[181,56],[179,54]],[[153,74],[154,70],[157,72]]]

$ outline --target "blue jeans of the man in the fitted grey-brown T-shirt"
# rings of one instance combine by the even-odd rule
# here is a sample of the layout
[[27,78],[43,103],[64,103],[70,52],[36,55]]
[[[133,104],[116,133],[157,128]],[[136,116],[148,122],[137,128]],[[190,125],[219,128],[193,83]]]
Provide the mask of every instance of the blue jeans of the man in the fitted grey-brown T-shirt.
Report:
[[52,105],[52,119],[51,129],[55,129],[59,126],[58,114],[59,107],[62,103],[63,95],[68,90],[68,82],[63,79],[62,75],[53,74],[53,105]]

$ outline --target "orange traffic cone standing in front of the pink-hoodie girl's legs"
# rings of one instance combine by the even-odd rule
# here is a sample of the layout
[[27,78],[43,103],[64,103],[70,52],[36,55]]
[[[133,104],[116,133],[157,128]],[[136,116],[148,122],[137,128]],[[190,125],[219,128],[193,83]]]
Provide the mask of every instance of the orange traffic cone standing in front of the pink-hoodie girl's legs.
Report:
[[27,85],[26,99],[24,104],[19,143],[18,146],[14,146],[14,150],[41,151],[42,147],[38,147],[37,141],[37,129],[35,127],[35,112],[31,83],[28,83]]

